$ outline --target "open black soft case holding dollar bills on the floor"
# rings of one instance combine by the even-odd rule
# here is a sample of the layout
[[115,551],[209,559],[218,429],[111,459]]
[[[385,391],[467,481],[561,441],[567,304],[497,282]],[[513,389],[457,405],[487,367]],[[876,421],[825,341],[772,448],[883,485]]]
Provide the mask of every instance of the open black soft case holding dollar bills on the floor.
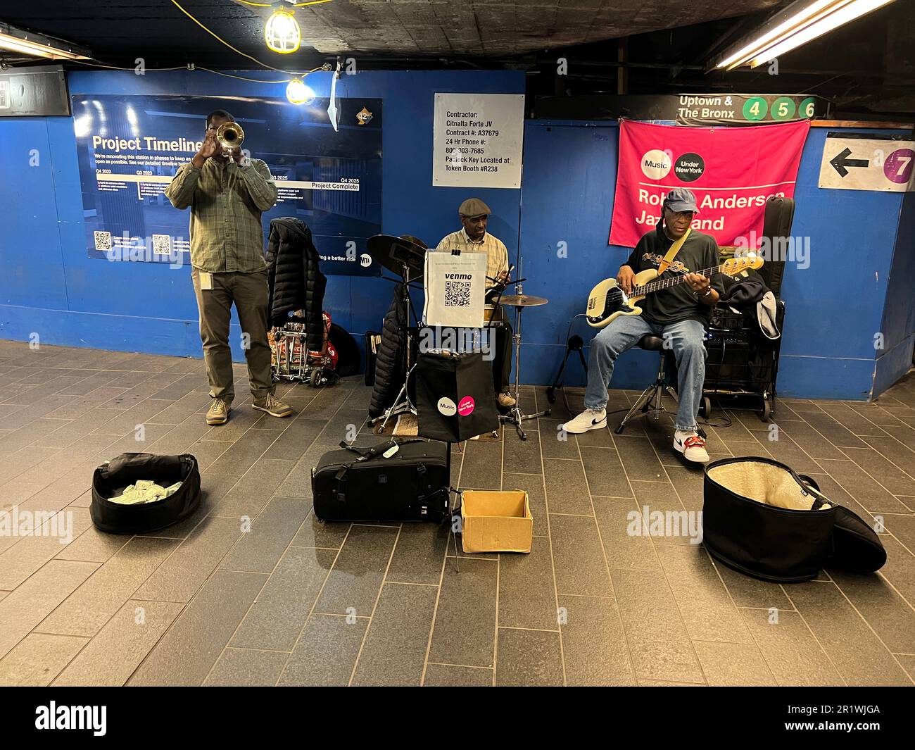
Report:
[[[123,497],[131,485],[148,483],[162,488],[179,486],[167,497],[151,502],[113,502],[112,498]],[[92,523],[112,534],[145,534],[169,527],[193,513],[199,502],[199,468],[189,453],[122,453],[92,474]]]

